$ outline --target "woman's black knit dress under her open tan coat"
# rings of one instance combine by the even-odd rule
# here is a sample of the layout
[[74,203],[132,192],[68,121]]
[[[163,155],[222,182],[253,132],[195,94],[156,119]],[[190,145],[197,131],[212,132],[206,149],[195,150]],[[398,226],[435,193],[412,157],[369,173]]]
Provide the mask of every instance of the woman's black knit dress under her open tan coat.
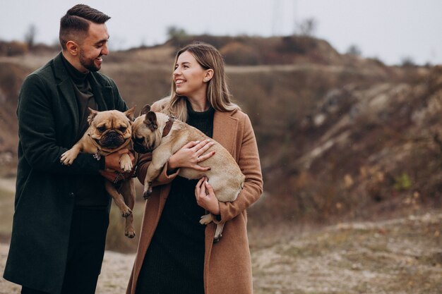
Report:
[[[187,104],[189,125],[213,135],[215,110],[196,112]],[[146,252],[136,294],[204,294],[205,209],[196,204],[198,180],[177,176]]]

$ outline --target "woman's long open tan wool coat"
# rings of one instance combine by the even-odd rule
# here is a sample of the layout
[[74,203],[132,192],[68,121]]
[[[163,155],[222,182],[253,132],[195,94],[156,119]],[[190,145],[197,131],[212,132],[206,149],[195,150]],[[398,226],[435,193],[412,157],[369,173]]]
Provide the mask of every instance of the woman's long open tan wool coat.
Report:
[[[153,110],[159,111],[154,106]],[[249,116],[239,110],[215,111],[213,139],[232,154],[246,176],[246,180],[237,200],[220,202],[220,222],[225,222],[221,240],[213,243],[215,223],[209,223],[205,228],[204,292],[205,294],[251,294],[253,286],[249,240],[246,231],[246,208],[261,196],[263,178],[256,138]],[[150,154],[145,154],[138,163],[137,175],[141,183],[144,182],[149,162]],[[153,193],[145,203],[140,241],[126,294],[135,293],[146,250],[167,201],[171,182],[179,173],[177,171],[172,175],[167,175],[166,171],[167,166],[158,176],[156,183],[153,183],[155,186]]]

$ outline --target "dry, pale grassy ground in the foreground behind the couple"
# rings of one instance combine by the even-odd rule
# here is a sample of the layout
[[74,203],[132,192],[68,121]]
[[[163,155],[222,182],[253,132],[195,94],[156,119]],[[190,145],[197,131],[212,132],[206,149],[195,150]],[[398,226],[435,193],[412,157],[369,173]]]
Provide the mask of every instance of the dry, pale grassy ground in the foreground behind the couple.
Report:
[[[442,214],[435,212],[341,223],[284,243],[255,245],[255,294],[441,294],[441,233]],[[7,252],[0,243],[0,274]],[[133,259],[107,251],[97,294],[124,293]],[[1,278],[0,294],[14,293],[18,286]]]

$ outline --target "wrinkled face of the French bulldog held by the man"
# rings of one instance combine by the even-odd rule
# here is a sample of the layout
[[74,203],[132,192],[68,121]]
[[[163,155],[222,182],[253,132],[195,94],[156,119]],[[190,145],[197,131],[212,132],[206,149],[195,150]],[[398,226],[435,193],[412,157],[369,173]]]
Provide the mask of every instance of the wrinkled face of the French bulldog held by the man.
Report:
[[128,140],[131,140],[133,112],[135,107],[128,111],[117,110],[95,111],[90,109],[88,122],[90,137],[97,145],[105,149],[117,149]]

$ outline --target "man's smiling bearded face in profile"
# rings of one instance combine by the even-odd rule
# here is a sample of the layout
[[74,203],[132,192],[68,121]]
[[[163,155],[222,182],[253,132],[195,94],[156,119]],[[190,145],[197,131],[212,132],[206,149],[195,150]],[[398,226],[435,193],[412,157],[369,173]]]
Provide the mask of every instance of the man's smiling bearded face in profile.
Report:
[[85,37],[80,44],[80,54],[78,55],[80,66],[83,67],[84,72],[100,71],[102,56],[109,54],[107,39],[109,39],[109,34],[104,23],[90,23],[88,37]]

